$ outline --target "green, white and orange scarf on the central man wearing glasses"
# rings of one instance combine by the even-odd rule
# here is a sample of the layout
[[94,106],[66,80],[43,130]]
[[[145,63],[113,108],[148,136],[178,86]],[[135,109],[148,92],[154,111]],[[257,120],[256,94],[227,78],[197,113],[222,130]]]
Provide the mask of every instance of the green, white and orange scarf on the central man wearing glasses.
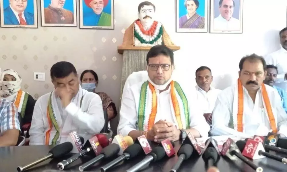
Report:
[[[170,82],[170,107],[173,107],[174,116],[179,129],[189,128],[189,108],[187,98],[179,83]],[[151,103],[151,105],[148,105]],[[140,131],[150,130],[155,123],[157,113],[157,98],[154,86],[146,81],[141,85],[139,107],[138,107],[138,127]]]

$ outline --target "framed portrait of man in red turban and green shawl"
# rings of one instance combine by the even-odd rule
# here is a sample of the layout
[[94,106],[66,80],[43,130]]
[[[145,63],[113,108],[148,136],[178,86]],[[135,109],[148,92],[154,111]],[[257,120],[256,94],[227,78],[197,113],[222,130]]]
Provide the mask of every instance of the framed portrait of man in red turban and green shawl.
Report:
[[80,29],[114,29],[114,0],[80,0]]

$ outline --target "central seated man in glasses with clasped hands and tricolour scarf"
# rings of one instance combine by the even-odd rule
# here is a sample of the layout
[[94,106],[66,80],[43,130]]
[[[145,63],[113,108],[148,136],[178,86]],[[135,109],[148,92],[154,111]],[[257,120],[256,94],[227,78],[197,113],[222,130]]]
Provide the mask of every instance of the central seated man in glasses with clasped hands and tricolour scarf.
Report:
[[183,92],[172,80],[173,52],[164,45],[153,46],[147,54],[148,81],[127,88],[122,97],[118,133],[141,135],[160,142],[184,139],[191,132],[194,137],[208,136],[209,125],[198,106],[195,91]]

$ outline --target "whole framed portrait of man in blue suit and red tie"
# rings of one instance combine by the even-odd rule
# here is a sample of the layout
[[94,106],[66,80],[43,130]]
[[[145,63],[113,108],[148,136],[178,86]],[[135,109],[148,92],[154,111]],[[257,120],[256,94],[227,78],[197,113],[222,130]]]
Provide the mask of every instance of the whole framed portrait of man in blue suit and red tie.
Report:
[[37,0],[1,0],[2,28],[38,28]]

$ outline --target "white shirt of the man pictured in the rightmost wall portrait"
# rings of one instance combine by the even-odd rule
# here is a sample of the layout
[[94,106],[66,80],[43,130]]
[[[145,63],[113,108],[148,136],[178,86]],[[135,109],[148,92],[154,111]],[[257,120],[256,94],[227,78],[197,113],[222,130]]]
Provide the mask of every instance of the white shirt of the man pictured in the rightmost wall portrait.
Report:
[[227,21],[219,15],[213,20],[213,30],[240,30],[240,21],[233,17]]

